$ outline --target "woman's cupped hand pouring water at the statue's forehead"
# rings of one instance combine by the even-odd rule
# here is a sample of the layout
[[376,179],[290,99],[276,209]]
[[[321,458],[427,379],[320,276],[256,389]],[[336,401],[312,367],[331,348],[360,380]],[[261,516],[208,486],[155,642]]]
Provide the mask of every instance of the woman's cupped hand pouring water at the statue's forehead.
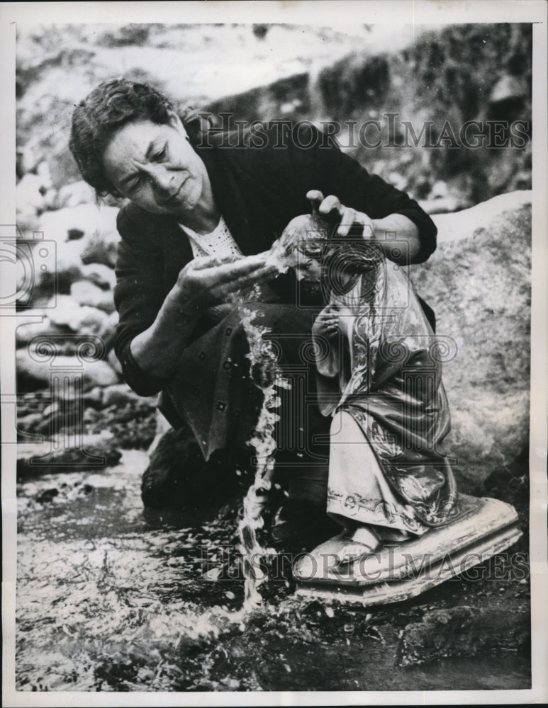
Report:
[[179,273],[177,299],[181,304],[194,306],[195,309],[206,309],[226,302],[231,293],[277,274],[276,268],[266,265],[266,261],[267,253],[194,258]]

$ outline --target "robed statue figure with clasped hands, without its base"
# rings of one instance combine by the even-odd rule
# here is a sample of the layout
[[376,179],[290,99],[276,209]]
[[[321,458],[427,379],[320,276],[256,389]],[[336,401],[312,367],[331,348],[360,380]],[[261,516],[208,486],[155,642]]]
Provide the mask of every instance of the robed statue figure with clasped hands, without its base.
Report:
[[374,242],[329,239],[318,216],[293,219],[276,250],[328,302],[312,331],[332,416],[327,509],[343,531],[318,550],[345,565],[452,522],[440,346],[405,273]]

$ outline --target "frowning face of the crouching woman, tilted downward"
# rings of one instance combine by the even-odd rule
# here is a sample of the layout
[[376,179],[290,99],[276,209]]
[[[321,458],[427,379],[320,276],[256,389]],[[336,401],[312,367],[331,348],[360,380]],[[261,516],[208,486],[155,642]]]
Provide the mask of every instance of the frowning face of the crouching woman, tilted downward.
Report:
[[140,120],[123,125],[103,154],[108,180],[153,214],[182,217],[211,198],[206,166],[176,115],[166,125]]

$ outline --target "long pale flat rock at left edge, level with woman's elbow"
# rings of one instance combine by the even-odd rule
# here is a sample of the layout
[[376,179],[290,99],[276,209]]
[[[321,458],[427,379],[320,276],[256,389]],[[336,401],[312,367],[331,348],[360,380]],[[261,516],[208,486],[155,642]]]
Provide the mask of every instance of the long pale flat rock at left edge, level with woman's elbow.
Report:
[[19,390],[32,390],[32,387],[44,388],[50,385],[50,377],[58,370],[72,370],[74,374],[82,373],[84,389],[95,386],[110,386],[118,383],[118,376],[104,360],[82,362],[75,356],[59,355],[55,360],[43,360],[35,352],[18,350],[16,352],[16,370]]

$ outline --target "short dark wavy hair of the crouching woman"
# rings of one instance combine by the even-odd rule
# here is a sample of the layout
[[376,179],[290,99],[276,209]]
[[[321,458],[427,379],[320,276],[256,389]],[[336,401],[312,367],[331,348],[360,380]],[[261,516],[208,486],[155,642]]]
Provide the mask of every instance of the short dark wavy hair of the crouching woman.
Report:
[[[172,113],[174,107],[162,93],[152,86],[128,79],[104,81],[80,101],[72,113],[69,147],[82,177],[94,188],[96,195],[120,196],[106,178],[103,166],[104,151],[116,131],[137,120],[165,125]],[[194,137],[199,116],[188,109],[181,120],[189,137]]]

